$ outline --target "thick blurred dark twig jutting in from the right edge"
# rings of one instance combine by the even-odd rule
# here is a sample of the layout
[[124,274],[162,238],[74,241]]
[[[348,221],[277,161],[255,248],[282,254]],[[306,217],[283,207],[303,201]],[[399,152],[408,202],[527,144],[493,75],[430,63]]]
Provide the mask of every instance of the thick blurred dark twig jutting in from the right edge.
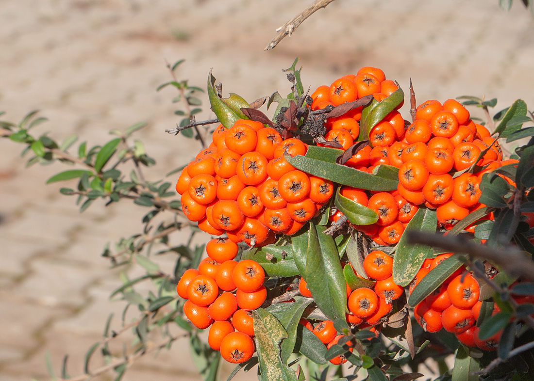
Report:
[[477,245],[461,236],[447,237],[419,231],[407,232],[407,243],[439,247],[447,250],[447,252],[466,253],[474,257],[484,258],[501,265],[502,269],[508,273],[534,281],[534,262],[516,248],[496,249]]

